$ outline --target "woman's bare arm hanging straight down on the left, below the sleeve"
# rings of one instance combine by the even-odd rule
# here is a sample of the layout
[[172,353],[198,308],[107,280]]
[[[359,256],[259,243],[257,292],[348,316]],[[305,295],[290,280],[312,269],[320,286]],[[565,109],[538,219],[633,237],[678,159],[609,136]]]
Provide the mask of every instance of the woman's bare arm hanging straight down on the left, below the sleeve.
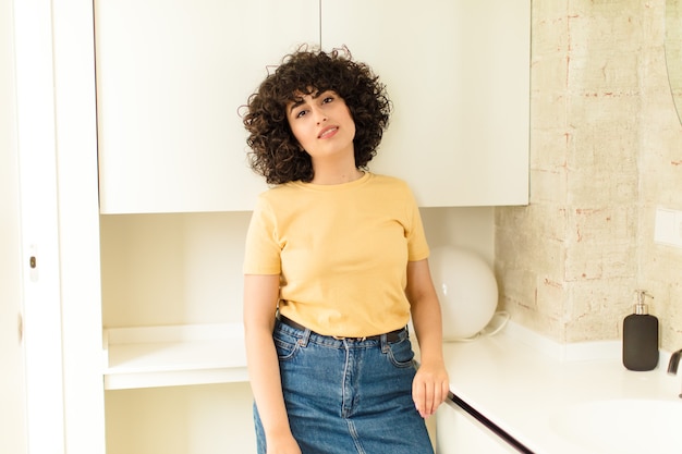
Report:
[[244,277],[244,330],[251,389],[265,431],[268,454],[301,454],[291,434],[279,360],[272,341],[279,300],[278,274]]

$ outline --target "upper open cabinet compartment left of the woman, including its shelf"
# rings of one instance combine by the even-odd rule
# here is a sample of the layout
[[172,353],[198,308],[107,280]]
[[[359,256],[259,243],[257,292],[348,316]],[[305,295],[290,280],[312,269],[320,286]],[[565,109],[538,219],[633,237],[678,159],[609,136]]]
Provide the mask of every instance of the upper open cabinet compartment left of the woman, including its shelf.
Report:
[[246,381],[248,212],[101,217],[107,390]]

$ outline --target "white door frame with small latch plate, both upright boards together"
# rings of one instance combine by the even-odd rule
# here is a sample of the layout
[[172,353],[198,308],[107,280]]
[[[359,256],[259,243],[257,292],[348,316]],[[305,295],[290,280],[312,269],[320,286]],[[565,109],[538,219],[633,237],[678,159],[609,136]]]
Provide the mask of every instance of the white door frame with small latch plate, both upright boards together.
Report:
[[28,453],[103,454],[93,2],[13,7]]

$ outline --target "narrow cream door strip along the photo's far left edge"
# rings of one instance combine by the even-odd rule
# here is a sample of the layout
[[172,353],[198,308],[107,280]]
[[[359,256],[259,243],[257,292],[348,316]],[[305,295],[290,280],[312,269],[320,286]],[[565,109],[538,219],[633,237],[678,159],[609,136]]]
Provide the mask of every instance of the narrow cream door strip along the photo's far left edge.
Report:
[[[14,68],[12,1],[0,0],[0,68]],[[19,168],[13,71],[0,71],[0,452],[26,453]]]

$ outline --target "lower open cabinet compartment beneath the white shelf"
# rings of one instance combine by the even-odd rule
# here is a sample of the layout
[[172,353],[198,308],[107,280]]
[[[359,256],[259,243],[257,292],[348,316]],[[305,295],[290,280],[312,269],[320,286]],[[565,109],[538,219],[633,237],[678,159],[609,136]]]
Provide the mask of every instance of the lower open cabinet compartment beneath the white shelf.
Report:
[[107,454],[256,454],[252,404],[248,383],[108,391]]

